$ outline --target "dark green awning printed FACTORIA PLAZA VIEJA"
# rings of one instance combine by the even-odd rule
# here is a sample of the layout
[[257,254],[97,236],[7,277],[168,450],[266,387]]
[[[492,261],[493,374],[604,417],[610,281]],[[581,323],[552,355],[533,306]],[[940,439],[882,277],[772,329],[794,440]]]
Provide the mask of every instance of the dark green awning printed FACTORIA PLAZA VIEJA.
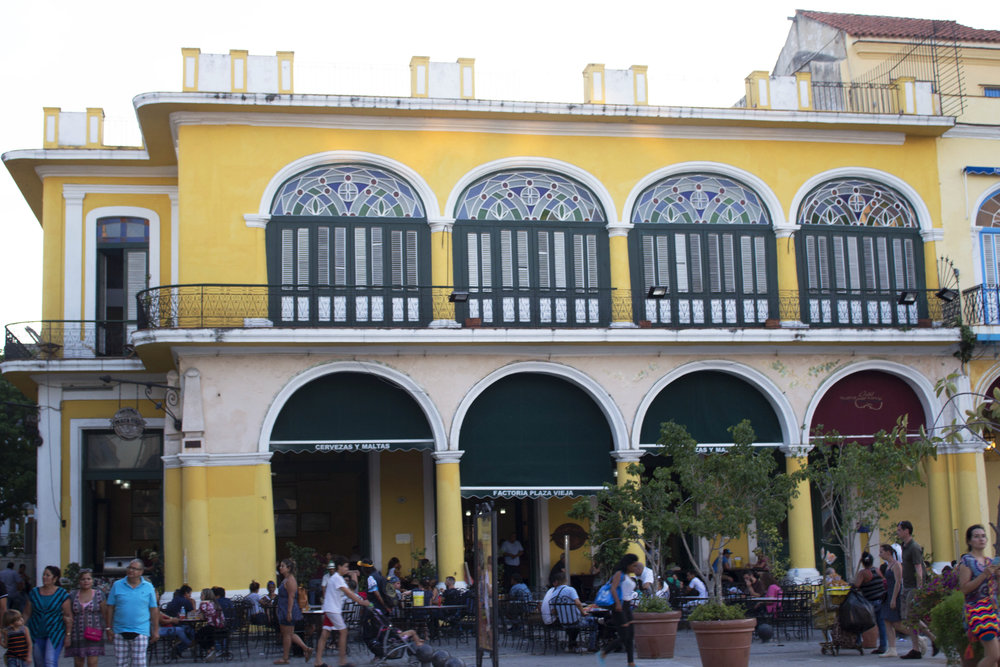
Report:
[[587,495],[613,479],[600,407],[552,375],[519,373],[489,387],[466,413],[459,446],[466,497]]

